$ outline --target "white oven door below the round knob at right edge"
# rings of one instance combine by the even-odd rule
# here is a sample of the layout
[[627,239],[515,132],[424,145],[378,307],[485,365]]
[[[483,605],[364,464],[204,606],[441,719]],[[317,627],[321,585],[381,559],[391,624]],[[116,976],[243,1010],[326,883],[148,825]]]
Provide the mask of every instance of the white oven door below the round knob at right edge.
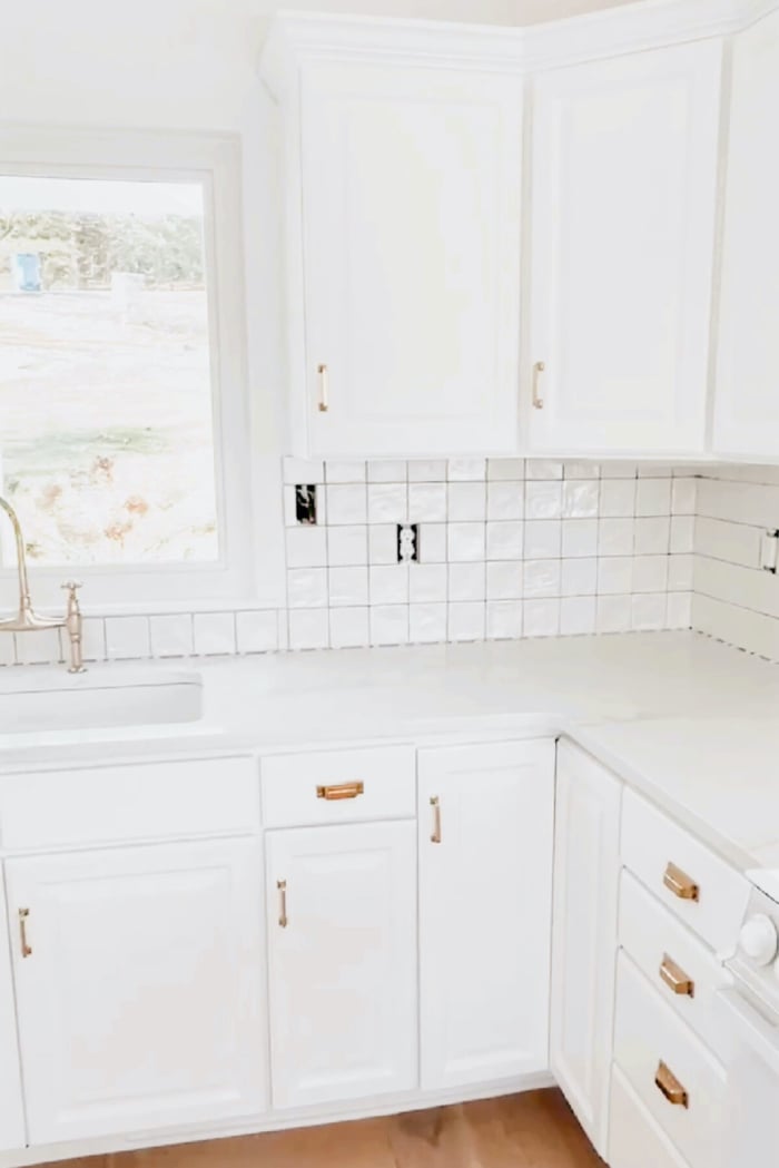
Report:
[[779,1163],[779,1017],[770,1017],[738,989],[718,1000],[732,1040],[723,1168]]

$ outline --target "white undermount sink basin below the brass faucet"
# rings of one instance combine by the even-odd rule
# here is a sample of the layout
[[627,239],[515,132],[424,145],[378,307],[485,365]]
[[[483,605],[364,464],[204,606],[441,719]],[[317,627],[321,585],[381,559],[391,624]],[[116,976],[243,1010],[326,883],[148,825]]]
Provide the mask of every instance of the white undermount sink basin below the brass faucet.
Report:
[[0,672],[0,735],[197,722],[202,679],[194,669],[96,666]]

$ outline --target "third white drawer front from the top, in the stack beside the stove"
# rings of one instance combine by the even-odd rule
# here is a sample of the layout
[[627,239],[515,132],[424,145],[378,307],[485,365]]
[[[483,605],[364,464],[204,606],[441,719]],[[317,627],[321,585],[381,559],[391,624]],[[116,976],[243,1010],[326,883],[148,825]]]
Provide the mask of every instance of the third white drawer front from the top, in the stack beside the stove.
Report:
[[[617,967],[614,1061],[691,1168],[719,1168],[725,1070],[625,953]],[[670,1103],[655,1084],[665,1063],[687,1091]]]

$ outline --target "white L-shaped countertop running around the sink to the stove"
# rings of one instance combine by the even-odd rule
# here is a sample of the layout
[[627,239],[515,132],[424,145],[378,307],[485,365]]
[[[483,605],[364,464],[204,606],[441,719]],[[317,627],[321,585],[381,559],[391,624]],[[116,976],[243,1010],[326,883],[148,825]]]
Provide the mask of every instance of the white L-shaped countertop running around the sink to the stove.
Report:
[[[133,668],[95,667],[90,684],[104,675],[116,686]],[[345,649],[195,668],[201,722],[5,735],[0,766],[562,732],[737,867],[779,868],[779,667],[704,637]],[[40,686],[36,667],[8,670],[25,684],[33,672]],[[4,670],[4,689],[9,680]]]

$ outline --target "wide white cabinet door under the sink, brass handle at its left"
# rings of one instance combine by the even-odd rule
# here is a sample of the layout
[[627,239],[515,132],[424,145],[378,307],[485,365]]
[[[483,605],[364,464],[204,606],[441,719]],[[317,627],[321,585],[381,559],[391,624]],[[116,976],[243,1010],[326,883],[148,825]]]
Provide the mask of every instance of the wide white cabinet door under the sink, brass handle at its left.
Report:
[[7,864],[32,1143],[264,1107],[256,841]]

